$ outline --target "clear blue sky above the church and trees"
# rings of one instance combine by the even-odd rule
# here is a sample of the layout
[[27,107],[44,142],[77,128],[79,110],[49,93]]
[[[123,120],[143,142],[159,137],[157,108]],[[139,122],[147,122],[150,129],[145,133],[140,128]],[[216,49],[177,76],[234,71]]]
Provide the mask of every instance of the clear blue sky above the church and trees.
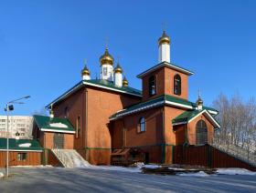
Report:
[[[93,3],[92,3],[93,2]],[[256,1],[0,1],[0,114],[5,102],[30,95],[14,115],[31,115],[80,81],[87,58],[92,77],[109,38],[130,86],[157,63],[162,23],[171,61],[195,72],[189,99],[200,88],[210,105],[220,92],[256,96]]]

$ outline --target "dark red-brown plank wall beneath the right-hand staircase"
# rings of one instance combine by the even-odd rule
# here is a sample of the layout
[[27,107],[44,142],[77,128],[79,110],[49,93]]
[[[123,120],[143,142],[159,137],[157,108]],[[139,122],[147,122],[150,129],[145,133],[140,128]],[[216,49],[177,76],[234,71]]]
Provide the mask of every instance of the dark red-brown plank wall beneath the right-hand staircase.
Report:
[[174,163],[203,166],[209,168],[247,168],[256,171],[256,168],[236,157],[219,151],[219,149],[206,146],[176,146],[174,147]]

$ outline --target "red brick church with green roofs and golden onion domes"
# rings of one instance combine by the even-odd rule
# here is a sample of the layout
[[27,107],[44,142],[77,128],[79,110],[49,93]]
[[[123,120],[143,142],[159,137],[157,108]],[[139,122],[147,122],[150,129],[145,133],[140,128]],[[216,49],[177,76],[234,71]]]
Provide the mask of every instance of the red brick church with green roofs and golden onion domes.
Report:
[[[219,112],[203,106],[200,96],[195,103],[188,100],[194,73],[171,63],[170,45],[164,31],[158,64],[137,76],[142,90],[129,86],[107,47],[101,77],[91,79],[84,66],[80,82],[49,103],[50,117],[34,116],[34,137],[44,148],[75,149],[94,165],[109,165],[112,155],[131,148],[140,149],[145,162],[171,164],[175,146],[211,143]],[[56,122],[48,124],[51,118]]]

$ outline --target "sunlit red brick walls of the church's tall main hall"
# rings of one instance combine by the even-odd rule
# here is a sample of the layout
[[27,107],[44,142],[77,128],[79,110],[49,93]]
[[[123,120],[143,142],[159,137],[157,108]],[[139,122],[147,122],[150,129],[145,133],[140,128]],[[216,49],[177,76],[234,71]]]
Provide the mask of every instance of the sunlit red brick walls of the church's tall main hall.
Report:
[[[87,93],[86,93],[87,92]],[[87,96],[87,98],[86,98]],[[65,116],[65,108],[69,107],[69,121],[76,127],[77,117],[81,118],[81,137],[74,138],[74,148],[81,156],[87,158],[93,164],[101,164],[103,154],[109,154],[105,164],[110,163],[110,150],[112,147],[109,130],[109,117],[124,107],[131,106],[141,101],[140,97],[129,96],[112,92],[106,89],[88,86],[60,101],[55,105],[56,117]],[[88,106],[86,107],[86,103]],[[86,108],[88,109],[88,124],[86,124]],[[86,126],[88,127],[86,128]],[[69,148],[70,148],[69,144]],[[85,147],[93,148],[86,150]],[[85,155],[86,152],[87,155]],[[95,154],[95,155],[94,155]],[[97,159],[99,162],[97,162]]]

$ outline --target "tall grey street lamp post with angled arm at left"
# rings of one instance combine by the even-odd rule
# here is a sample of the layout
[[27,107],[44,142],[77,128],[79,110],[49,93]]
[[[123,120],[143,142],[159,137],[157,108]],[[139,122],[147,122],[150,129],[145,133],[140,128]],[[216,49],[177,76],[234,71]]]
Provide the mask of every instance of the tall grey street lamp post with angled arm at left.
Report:
[[9,177],[9,111],[14,110],[14,106],[12,104],[24,104],[23,102],[18,102],[19,100],[29,98],[30,96],[23,96],[21,98],[17,98],[6,103],[5,111],[7,115],[7,132],[6,132],[6,170],[5,176]]

